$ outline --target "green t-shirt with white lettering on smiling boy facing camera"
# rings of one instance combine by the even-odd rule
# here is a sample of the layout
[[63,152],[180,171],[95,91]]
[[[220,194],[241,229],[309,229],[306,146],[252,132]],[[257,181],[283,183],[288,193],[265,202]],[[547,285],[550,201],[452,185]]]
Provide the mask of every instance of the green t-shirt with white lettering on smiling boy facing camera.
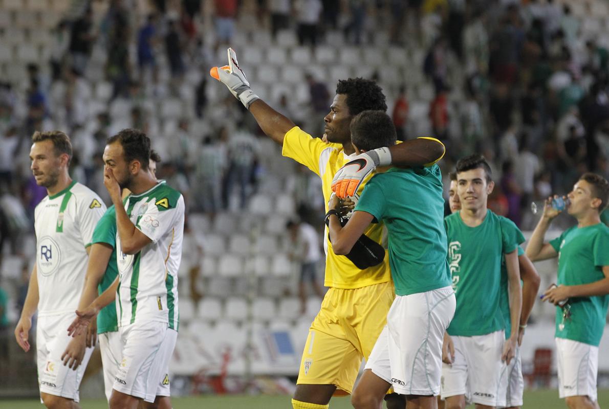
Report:
[[481,225],[463,223],[460,211],[444,219],[448,265],[457,309],[449,335],[473,337],[505,328],[501,302],[501,261],[524,243],[516,225],[490,210]]

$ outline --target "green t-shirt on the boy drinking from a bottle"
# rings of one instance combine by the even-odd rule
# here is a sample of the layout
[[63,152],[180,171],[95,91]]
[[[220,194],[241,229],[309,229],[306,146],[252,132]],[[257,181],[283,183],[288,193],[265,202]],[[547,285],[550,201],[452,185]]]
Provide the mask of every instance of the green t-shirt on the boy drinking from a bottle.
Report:
[[[605,278],[602,268],[609,265],[609,227],[603,223],[572,228],[550,242],[558,251],[558,285],[589,284]],[[598,346],[605,328],[609,295],[569,298],[571,318],[563,322],[556,307],[555,337]]]

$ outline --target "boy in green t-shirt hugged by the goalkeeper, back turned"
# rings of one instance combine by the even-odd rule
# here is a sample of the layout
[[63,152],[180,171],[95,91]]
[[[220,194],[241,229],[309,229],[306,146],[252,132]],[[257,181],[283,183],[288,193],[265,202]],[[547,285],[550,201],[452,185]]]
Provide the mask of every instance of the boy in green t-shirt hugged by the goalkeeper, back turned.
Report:
[[[382,111],[364,111],[351,121],[356,153],[395,144],[395,127]],[[334,197],[326,214],[334,253],[348,254],[370,223],[384,222],[396,298],[353,391],[354,407],[379,407],[393,390],[408,406],[434,408],[440,392],[442,341],[456,300],[446,262],[444,199],[437,165],[393,167],[364,187],[342,227],[339,212],[352,203]]]

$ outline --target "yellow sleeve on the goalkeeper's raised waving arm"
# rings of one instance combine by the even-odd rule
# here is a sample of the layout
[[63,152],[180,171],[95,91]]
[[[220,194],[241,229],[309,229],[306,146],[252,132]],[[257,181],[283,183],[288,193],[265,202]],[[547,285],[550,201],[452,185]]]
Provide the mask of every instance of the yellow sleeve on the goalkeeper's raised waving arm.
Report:
[[320,175],[319,158],[326,149],[335,149],[335,144],[326,144],[319,138],[294,127],[287,131],[283,138],[283,149],[281,154],[287,158],[292,158],[311,169],[318,176]]

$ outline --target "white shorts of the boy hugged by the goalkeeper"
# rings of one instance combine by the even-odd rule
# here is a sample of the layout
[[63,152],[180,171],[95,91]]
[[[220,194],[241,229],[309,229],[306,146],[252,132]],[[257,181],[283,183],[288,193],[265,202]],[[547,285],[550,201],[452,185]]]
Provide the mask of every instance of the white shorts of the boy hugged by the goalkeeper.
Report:
[[440,393],[442,341],[455,307],[452,287],[396,296],[365,369],[399,394]]

